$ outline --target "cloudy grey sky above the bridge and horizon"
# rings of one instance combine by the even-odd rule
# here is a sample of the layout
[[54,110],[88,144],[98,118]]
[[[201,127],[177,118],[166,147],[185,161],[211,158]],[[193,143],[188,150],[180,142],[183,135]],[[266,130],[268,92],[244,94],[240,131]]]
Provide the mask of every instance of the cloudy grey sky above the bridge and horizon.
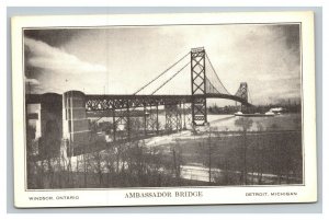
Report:
[[[195,47],[205,48],[231,94],[247,82],[253,104],[300,99],[298,24],[25,30],[26,92],[133,94]],[[138,94],[151,94],[189,61]],[[156,94],[191,94],[190,66]]]

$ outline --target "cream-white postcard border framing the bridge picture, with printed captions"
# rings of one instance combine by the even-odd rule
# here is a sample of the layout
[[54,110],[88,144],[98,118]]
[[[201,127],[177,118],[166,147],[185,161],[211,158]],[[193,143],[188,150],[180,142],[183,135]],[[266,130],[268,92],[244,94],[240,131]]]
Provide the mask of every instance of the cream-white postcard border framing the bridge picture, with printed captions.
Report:
[[[192,16],[193,15],[193,16]],[[24,180],[24,73],[22,45],[25,27],[100,26],[100,25],[159,25],[159,24],[218,24],[218,23],[302,23],[303,44],[303,143],[304,185],[290,186],[225,186],[225,187],[163,187],[122,189],[25,190]],[[311,202],[317,200],[316,111],[314,14],[311,12],[239,12],[147,15],[72,15],[25,16],[12,20],[12,95],[14,147],[14,204],[16,207],[80,207],[80,206],[154,206],[202,204],[262,204]],[[307,134],[307,135],[306,135]],[[171,197],[126,198],[129,193],[170,193]],[[177,197],[180,192],[201,192],[201,196]],[[248,193],[264,193],[248,196]],[[271,196],[272,193],[297,193],[297,196]],[[66,196],[71,199],[64,199]],[[29,197],[41,197],[30,200]],[[44,199],[42,199],[44,197]],[[53,198],[47,200],[48,198]]]

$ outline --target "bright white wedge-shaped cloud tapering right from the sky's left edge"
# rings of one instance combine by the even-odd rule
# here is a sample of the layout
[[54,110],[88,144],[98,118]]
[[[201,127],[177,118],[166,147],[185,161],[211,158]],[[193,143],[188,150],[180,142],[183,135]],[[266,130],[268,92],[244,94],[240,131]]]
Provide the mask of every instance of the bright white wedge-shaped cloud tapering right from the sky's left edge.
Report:
[[31,51],[27,65],[60,73],[106,72],[106,67],[89,63],[63,49],[29,37],[24,38],[25,46]]

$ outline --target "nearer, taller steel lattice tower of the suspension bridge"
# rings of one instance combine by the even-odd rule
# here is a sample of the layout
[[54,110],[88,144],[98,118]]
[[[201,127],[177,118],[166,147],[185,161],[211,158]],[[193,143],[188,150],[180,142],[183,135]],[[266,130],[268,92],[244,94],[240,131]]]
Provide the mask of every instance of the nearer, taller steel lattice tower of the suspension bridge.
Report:
[[203,126],[207,123],[205,49],[191,50],[191,90],[192,90],[192,124]]

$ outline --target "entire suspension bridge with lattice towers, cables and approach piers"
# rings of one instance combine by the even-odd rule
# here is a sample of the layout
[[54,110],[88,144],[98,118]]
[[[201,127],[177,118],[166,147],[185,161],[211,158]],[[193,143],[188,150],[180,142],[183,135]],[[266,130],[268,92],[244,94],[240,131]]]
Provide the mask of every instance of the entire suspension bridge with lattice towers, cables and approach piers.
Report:
[[[149,94],[140,94],[173,68],[178,68],[174,74],[162,80],[160,85],[154,88]],[[191,69],[190,95],[157,94],[188,68]],[[174,90],[174,86],[171,89]],[[63,95],[26,94],[26,119],[34,118],[39,121],[41,140],[54,140],[54,136],[55,139],[58,137],[61,141],[66,141],[70,149],[69,154],[78,155],[86,152],[86,148],[90,148],[92,143],[102,148],[97,132],[92,132],[95,121],[101,118],[109,118],[103,129],[106,132],[106,146],[139,140],[206,125],[207,99],[232,100],[241,103],[241,108],[251,106],[248,102],[247,82],[241,82],[236,93],[229,93],[202,47],[191,49],[131,95],[84,94],[80,91],[68,91]],[[37,103],[39,116],[29,113],[29,105]],[[44,153],[59,151],[59,148],[50,151],[42,150],[42,142],[39,148]]]

